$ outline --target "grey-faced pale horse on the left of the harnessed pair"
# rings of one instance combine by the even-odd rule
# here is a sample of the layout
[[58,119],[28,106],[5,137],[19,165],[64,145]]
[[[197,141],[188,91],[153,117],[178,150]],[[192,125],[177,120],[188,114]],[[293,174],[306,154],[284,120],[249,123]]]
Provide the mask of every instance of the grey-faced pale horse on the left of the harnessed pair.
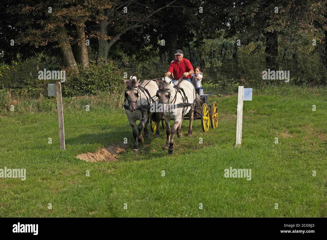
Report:
[[[126,86],[125,90],[125,105],[123,105],[129,124],[132,127],[134,137],[133,151],[138,151],[139,143],[143,143],[142,129],[144,127],[144,134],[146,138],[150,137],[147,125],[153,112],[150,112],[150,104],[154,103],[157,99],[156,93],[158,91],[158,85],[155,81],[144,80],[139,85],[139,80],[135,76],[130,76],[129,80],[124,79]],[[156,113],[157,126],[160,124],[160,113]],[[140,123],[136,130],[136,121],[140,120]],[[156,130],[155,137],[159,137],[159,127]]]

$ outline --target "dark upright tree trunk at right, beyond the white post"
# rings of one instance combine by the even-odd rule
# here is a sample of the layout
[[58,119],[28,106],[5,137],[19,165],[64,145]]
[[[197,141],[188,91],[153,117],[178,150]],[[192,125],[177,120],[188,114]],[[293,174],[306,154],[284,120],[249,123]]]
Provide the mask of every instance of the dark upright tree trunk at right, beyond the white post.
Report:
[[278,58],[278,33],[267,32],[266,33],[266,67],[270,68],[270,71],[278,71],[279,66],[277,62]]

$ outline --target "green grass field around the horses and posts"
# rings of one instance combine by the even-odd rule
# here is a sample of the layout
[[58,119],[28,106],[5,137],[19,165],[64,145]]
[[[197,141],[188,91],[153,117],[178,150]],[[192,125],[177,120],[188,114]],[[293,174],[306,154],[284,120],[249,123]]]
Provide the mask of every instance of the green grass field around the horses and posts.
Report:
[[[253,100],[244,102],[242,147],[234,148],[237,95],[214,96],[218,128],[203,133],[196,120],[187,137],[185,121],[173,155],[163,149],[163,130],[132,152],[121,109],[93,103],[90,111],[64,110],[64,152],[56,112],[3,114],[0,168],[26,168],[26,180],[0,178],[0,217],[326,217],[327,90],[253,92]],[[118,161],[75,157],[125,137],[129,147]],[[251,180],[225,178],[230,167],[251,169]]]

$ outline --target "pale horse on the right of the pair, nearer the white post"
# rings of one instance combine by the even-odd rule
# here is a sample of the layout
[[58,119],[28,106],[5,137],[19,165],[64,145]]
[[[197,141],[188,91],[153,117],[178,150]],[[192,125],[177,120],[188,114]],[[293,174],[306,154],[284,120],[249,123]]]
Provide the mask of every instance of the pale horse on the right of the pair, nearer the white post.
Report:
[[[172,83],[170,77],[163,77],[157,82],[159,90],[157,97],[159,104],[168,105],[169,111],[163,112],[163,118],[166,122],[167,142],[165,147],[168,147],[168,153],[174,153],[174,135],[177,130],[177,137],[181,138],[181,124],[185,114],[189,113],[190,127],[188,136],[192,136],[192,123],[194,105],[196,102],[195,88],[192,83],[186,80],[179,81],[176,85]],[[174,125],[170,129],[170,120],[174,120]],[[171,134],[171,139],[169,141]]]

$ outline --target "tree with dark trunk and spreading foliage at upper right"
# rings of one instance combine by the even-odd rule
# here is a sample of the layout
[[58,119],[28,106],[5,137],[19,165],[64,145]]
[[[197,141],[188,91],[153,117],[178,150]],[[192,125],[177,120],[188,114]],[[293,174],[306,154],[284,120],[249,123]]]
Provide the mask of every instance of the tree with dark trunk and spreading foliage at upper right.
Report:
[[[266,43],[266,67],[278,70],[278,38],[294,38],[312,30],[314,19],[326,26],[322,1],[232,1],[227,8],[230,16],[229,34],[238,34],[242,44]],[[325,28],[324,28],[325,29]]]

